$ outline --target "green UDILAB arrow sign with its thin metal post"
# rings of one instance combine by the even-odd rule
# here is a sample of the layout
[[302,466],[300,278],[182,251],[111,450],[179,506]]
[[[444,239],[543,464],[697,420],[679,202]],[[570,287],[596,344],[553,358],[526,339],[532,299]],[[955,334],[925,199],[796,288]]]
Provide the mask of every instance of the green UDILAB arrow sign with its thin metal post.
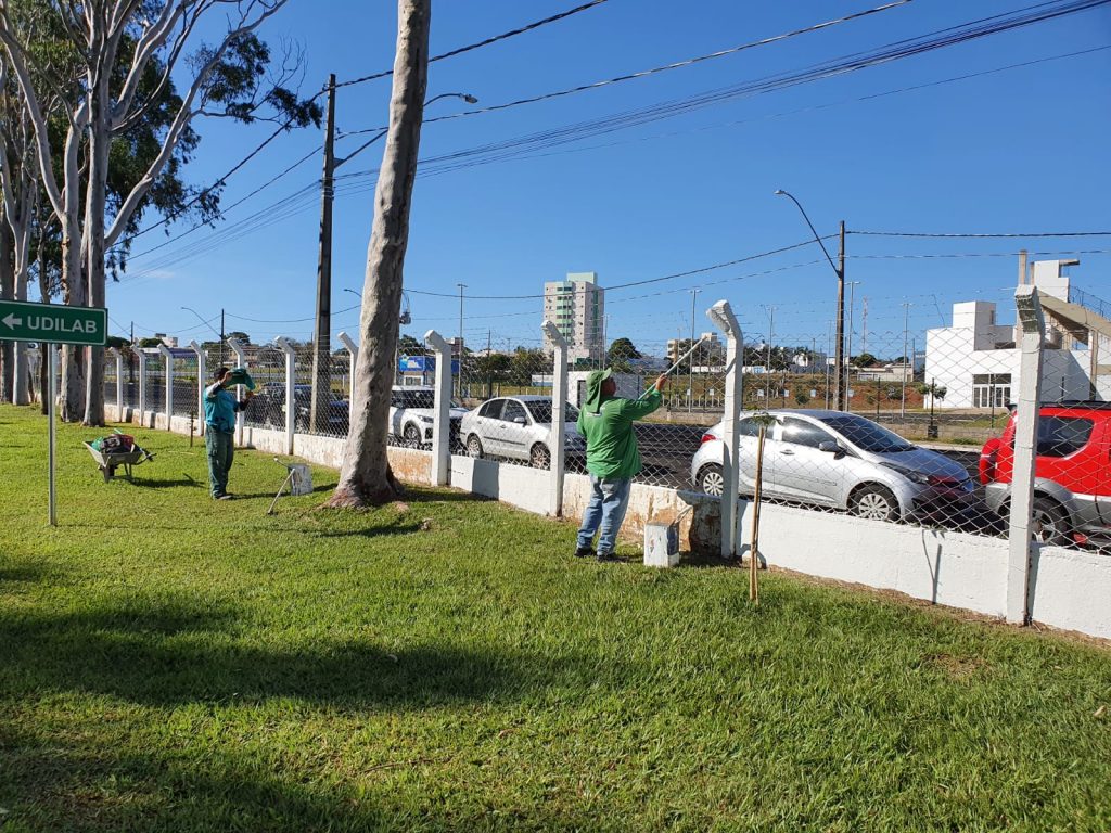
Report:
[[47,400],[49,421],[49,486],[50,525],[58,525],[54,493],[56,430],[54,411],[58,369],[54,349],[58,344],[103,347],[108,343],[108,310],[99,307],[62,307],[28,301],[0,301],[0,341],[34,341],[43,348],[43,359],[50,362],[50,391]]

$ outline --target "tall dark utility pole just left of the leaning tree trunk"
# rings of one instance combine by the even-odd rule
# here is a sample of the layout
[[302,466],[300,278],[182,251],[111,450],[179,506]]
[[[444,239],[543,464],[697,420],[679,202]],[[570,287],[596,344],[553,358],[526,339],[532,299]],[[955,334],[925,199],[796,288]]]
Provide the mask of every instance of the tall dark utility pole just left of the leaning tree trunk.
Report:
[[[332,392],[332,180],[336,173],[336,73],[328,76],[328,121],[324,124],[324,175],[320,194],[320,257],[317,261],[317,331],[312,351],[312,402],[309,423],[312,430],[328,428]],[[223,328],[221,315],[221,330]],[[220,340],[223,360],[223,339]],[[394,364],[394,369],[397,364]],[[397,372],[394,370],[394,372]]]

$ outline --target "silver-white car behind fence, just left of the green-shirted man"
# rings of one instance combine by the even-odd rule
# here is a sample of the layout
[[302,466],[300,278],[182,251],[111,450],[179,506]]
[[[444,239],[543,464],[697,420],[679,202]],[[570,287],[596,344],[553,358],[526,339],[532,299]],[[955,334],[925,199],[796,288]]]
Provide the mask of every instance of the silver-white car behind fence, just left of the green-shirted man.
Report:
[[[568,461],[582,461],[587,441],[575,429],[579,409],[568,403],[564,414],[563,449]],[[460,424],[460,438],[472,458],[520,460],[534,469],[551,466],[551,397],[499,397],[468,413]]]

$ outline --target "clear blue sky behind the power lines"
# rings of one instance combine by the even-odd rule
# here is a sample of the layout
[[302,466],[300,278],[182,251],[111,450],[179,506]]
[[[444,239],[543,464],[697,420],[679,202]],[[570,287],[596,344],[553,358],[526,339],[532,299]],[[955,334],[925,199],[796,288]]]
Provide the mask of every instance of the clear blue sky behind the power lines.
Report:
[[[438,0],[432,53],[443,52],[570,8],[570,0]],[[739,3],[705,0],[609,0],[538,31],[432,64],[429,97],[468,92],[498,104],[729,49],[879,3],[795,0]],[[913,0],[899,8],[727,56],[502,112],[430,123],[421,141],[429,159],[563,128],[659,102],[698,96],[903,38],[1018,9],[1021,0],[954,3]],[[302,90],[334,72],[340,81],[392,64],[396,4],[387,0],[290,0],[260,32],[304,50]],[[1111,229],[1111,49],[1047,61],[953,83],[874,97],[909,87],[1111,44],[1111,7],[935,52],[703,109],[523,157],[442,170],[418,178],[406,288],[421,337],[459,329],[457,293],[467,284],[464,335],[483,347],[538,343],[538,299],[481,295],[542,292],[546,280],[595,271],[605,287],[738,260],[809,238],[783,198],[798,197],[822,234],[843,219],[850,230],[1038,232]],[[341,131],[386,123],[389,80],[347,87],[337,99]],[[861,100],[865,99],[865,100]],[[469,109],[447,99],[428,118]],[[203,141],[187,175],[208,184],[267,136],[269,126],[197,124]],[[366,137],[343,139],[338,154]],[[281,137],[224,192],[230,204],[322,141],[322,131]],[[376,168],[381,143],[339,173]],[[481,158],[479,158],[481,159]],[[256,341],[309,338],[316,293],[320,198],[312,155],[289,175],[229,212],[212,230],[173,237],[188,223],[134,242],[128,275],[109,287],[113,332],[134,322],[137,335],[211,333],[197,317],[227,312],[228,330]],[[333,310],[361,290],[370,233],[373,179],[347,177],[336,201]],[[296,194],[301,193],[300,197]],[[270,208],[250,229],[234,225]],[[249,233],[244,233],[249,232]],[[152,244],[170,241],[157,252]],[[835,241],[829,241],[835,253]],[[1019,248],[1040,258],[1079,257],[1078,285],[1111,297],[1111,238],[921,240],[850,234],[847,265],[862,338],[868,298],[869,349],[899,354],[904,303],[911,337],[948,323],[952,302],[984,298],[1007,304]],[[1083,252],[1075,254],[1075,252]],[[1060,253],[1057,254],[1057,253]],[[922,257],[930,255],[930,257]],[[939,257],[945,255],[945,257]],[[953,257],[975,255],[975,257]],[[762,274],[761,274],[762,273]],[[769,328],[777,343],[817,343],[834,312],[835,279],[817,245],[641,288],[607,298],[610,339],[627,335],[643,350],[691,325],[691,289],[702,310],[729,299],[748,337]],[[1001,321],[1013,320],[1002,310]],[[358,332],[358,309],[333,315],[333,333]],[[890,349],[888,349],[890,347]],[[855,350],[854,350],[855,352]]]

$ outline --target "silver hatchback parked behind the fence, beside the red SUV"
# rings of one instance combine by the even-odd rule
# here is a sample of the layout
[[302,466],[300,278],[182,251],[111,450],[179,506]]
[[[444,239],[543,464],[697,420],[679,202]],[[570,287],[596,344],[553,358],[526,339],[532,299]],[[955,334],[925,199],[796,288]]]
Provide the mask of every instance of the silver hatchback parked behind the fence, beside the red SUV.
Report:
[[[964,466],[921,449],[855,413],[774,410],[764,440],[761,492],[769,498],[844,509],[861,518],[904,520],[920,512],[963,509],[974,483]],[[754,414],[742,414],[739,491],[755,488]],[[721,494],[722,423],[702,436],[691,461],[694,485]]]

